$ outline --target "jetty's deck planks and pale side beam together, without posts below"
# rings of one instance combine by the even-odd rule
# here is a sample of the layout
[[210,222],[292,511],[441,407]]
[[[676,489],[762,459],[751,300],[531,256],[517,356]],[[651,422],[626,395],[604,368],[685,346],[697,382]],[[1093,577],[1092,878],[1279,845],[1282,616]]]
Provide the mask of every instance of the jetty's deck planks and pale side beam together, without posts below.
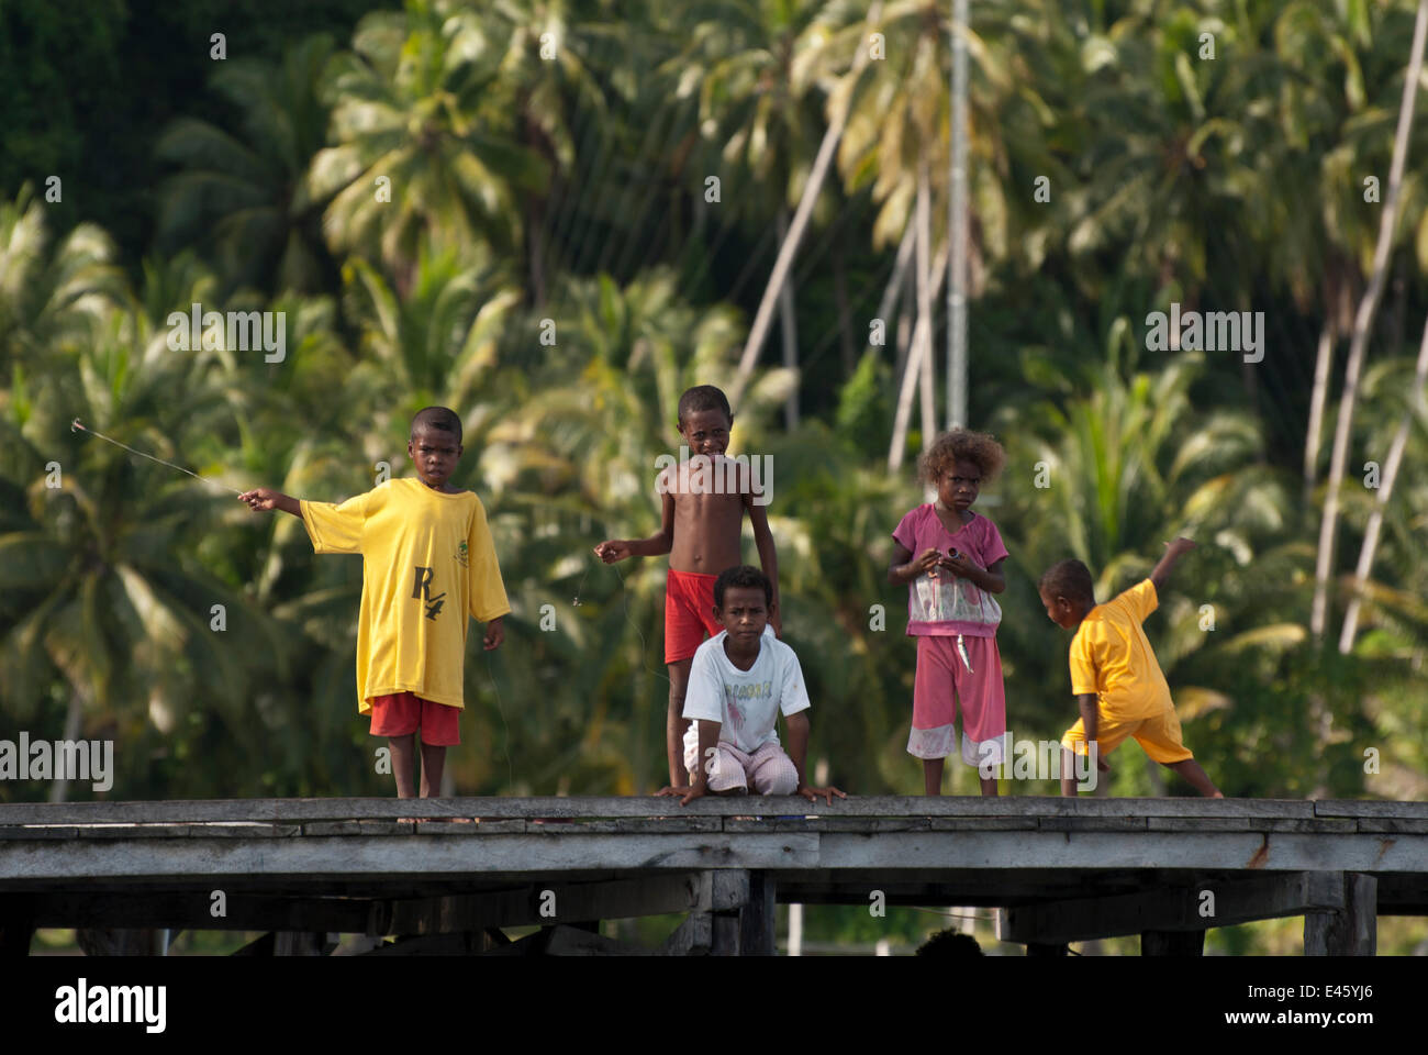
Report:
[[[434,819],[398,822],[423,815]],[[1428,873],[1428,803],[868,796],[830,808],[748,796],[700,799],[688,812],[667,798],[0,805],[0,889],[76,878],[310,883],[871,869],[891,879],[1077,868]]]

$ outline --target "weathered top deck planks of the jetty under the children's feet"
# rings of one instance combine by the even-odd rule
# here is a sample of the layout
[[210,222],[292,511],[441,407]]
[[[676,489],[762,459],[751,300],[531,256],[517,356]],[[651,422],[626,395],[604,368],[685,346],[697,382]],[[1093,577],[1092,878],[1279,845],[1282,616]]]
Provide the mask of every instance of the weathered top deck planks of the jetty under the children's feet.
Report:
[[[750,819],[751,811],[757,819]],[[404,818],[424,818],[421,825]],[[224,799],[0,805],[0,842],[133,838],[284,839],[664,832],[1125,831],[1428,835],[1424,802],[867,796]]]

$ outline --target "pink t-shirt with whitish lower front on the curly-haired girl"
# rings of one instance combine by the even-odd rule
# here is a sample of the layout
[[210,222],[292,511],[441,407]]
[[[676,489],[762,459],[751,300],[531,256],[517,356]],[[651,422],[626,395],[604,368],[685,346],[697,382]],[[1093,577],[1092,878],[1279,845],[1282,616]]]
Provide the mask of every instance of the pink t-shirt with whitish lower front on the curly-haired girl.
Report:
[[[914,558],[925,549],[955,549],[978,568],[990,568],[1007,556],[997,525],[985,516],[972,513],[971,523],[948,532],[930,502],[904,516],[892,538]],[[1000,622],[997,600],[947,569],[920,575],[907,586],[907,632],[912,636],[994,638]]]

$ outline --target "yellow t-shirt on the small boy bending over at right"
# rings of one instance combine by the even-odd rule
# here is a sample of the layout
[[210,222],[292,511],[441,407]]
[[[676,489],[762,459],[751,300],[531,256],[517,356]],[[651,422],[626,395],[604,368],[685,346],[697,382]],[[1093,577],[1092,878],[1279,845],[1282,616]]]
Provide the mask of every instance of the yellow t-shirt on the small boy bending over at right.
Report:
[[1170,685],[1141,623],[1160,606],[1145,579],[1085,613],[1071,639],[1071,692],[1094,692],[1101,713],[1120,720],[1172,709]]

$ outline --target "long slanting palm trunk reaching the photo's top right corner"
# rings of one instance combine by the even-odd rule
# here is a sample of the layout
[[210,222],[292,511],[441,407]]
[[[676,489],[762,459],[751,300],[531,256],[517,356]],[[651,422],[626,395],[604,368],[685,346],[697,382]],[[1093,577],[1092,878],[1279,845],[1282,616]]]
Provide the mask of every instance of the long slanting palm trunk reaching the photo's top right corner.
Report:
[[1338,533],[1338,492],[1344,483],[1344,466],[1348,462],[1348,437],[1354,423],[1354,403],[1358,399],[1358,379],[1364,370],[1364,353],[1388,274],[1388,252],[1392,244],[1394,226],[1398,222],[1398,192],[1404,179],[1404,162],[1408,157],[1408,133],[1412,127],[1414,104],[1418,99],[1425,34],[1428,34],[1428,0],[1418,0],[1412,51],[1408,60],[1408,74],[1404,79],[1404,101],[1398,109],[1398,129],[1394,133],[1394,160],[1388,170],[1388,193],[1384,196],[1378,244],[1374,247],[1374,270],[1364,299],[1358,304],[1358,316],[1354,319],[1354,340],[1349,345],[1348,365],[1344,370],[1344,396],[1339,403],[1338,427],[1334,430],[1329,487],[1324,496],[1324,520],[1319,528],[1318,559],[1314,566],[1314,608],[1309,613],[1309,629],[1315,639],[1322,639],[1324,628],[1328,623],[1328,585],[1329,573],[1334,569],[1334,543]]

